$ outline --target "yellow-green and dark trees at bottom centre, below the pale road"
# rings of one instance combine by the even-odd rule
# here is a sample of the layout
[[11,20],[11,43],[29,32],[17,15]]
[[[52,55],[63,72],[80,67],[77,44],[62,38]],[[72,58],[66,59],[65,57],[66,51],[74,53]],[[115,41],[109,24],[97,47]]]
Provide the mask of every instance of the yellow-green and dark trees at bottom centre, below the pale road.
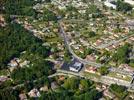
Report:
[[39,100],[98,100],[102,93],[93,87],[93,82],[75,77],[67,78],[56,91],[42,93]]

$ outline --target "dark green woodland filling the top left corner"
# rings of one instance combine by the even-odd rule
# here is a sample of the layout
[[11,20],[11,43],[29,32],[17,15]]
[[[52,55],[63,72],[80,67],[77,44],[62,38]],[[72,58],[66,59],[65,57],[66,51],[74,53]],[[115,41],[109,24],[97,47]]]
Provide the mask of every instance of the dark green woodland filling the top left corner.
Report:
[[1,5],[4,7],[3,13],[11,15],[33,15],[34,10],[32,5],[36,2],[34,0],[3,0]]

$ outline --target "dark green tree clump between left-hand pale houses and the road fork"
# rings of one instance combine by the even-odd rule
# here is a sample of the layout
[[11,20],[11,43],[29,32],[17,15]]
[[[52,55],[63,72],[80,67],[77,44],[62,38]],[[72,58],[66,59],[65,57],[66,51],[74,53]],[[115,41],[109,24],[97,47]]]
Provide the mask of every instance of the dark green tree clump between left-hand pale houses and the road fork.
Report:
[[53,63],[38,59],[33,63],[33,66],[19,68],[11,73],[11,78],[16,83],[33,81],[52,74]]

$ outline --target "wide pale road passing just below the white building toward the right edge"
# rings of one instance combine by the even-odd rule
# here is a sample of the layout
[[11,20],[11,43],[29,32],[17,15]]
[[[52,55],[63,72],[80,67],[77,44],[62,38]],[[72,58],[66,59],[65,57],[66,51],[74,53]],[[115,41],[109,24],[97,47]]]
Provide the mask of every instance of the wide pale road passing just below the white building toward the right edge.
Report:
[[97,78],[95,76],[85,76],[83,73],[75,73],[75,72],[70,72],[70,71],[65,71],[65,70],[57,70],[57,73],[48,76],[48,78],[52,78],[52,77],[59,76],[59,75],[64,75],[64,76],[69,76],[69,77],[77,76],[77,77],[81,77],[85,79],[90,79],[94,82],[100,82],[106,85],[118,84],[118,85],[130,87],[130,84],[131,84],[131,82],[116,79],[116,78],[109,77],[109,76],[100,76],[100,78]]

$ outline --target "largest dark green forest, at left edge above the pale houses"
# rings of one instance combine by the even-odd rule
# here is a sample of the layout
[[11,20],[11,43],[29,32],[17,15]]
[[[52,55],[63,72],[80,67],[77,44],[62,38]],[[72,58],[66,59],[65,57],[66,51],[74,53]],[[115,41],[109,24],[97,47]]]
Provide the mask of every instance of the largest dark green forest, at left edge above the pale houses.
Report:
[[48,47],[42,46],[42,41],[35,38],[18,24],[9,24],[0,29],[0,69],[6,68],[7,63],[18,57],[22,51],[38,53],[43,57],[49,55]]

